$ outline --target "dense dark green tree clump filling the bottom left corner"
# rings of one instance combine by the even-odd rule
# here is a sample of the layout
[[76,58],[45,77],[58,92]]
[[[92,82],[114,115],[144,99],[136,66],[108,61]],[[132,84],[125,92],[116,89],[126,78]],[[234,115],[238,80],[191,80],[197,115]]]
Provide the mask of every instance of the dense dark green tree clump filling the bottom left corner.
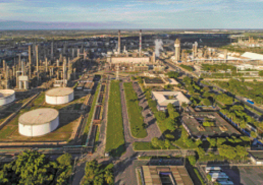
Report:
[[37,151],[24,151],[0,168],[1,185],[66,185],[72,174],[72,156],[64,154],[50,161]]

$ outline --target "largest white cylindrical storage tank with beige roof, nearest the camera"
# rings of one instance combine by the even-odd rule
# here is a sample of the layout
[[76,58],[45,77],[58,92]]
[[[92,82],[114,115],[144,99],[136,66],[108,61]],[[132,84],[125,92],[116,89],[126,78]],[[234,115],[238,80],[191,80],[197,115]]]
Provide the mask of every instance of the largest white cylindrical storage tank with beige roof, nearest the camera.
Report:
[[48,134],[59,125],[59,112],[56,109],[40,108],[24,113],[18,119],[19,133],[34,137]]

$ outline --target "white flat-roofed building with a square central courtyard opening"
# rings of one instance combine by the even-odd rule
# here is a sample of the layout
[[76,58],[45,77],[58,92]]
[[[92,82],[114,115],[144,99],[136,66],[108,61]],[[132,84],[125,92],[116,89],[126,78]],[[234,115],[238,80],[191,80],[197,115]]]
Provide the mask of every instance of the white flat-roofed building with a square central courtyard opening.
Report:
[[152,98],[157,101],[158,111],[165,111],[169,103],[179,108],[183,102],[190,104],[191,101],[182,93],[174,91],[152,92]]

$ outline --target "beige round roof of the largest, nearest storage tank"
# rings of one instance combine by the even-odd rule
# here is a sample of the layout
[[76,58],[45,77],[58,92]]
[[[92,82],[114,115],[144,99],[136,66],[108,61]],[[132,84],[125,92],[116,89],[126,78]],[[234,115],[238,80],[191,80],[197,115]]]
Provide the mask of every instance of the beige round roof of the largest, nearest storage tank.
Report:
[[59,112],[56,109],[40,108],[24,113],[19,117],[19,123],[24,125],[41,125],[49,123],[57,118]]

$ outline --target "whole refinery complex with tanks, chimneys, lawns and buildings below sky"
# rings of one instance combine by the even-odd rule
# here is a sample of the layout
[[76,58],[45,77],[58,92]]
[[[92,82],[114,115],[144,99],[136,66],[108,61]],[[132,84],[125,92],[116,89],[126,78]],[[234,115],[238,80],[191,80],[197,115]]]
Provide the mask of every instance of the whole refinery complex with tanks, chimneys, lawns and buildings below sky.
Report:
[[260,181],[245,170],[263,171],[262,34],[98,33],[0,40],[3,164],[30,150],[71,154],[68,184],[93,160],[118,185]]

